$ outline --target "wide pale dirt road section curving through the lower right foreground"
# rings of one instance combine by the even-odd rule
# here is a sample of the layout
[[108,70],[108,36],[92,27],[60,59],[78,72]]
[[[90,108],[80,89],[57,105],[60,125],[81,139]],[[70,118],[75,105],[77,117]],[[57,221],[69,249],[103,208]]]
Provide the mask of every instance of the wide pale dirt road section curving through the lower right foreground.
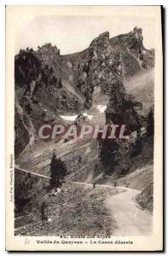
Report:
[[142,211],[134,201],[141,191],[121,187],[117,189],[125,189],[125,192],[109,196],[105,201],[107,209],[112,213],[117,224],[113,236],[150,235],[153,217],[148,212]]

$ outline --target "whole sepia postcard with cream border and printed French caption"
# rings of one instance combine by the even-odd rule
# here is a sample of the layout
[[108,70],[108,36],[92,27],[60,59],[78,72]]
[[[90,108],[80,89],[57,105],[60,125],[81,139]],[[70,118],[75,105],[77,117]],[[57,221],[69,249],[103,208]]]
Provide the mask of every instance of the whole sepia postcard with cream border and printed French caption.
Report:
[[7,6],[9,250],[162,248],[160,20]]

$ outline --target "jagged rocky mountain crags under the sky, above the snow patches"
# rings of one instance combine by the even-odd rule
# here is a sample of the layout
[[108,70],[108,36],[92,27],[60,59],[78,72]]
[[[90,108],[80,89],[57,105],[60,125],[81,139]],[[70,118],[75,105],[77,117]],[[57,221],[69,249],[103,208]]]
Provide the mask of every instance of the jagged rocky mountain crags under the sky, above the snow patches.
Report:
[[14,59],[16,155],[34,143],[43,122],[62,122],[61,113],[90,109],[96,87],[110,97],[107,123],[125,123],[130,131],[142,126],[142,104],[123,84],[126,77],[154,67],[154,50],[145,49],[142,40],[142,29],[135,27],[115,38],[103,32],[88,49],[72,55],[60,55],[51,44],[20,49]]

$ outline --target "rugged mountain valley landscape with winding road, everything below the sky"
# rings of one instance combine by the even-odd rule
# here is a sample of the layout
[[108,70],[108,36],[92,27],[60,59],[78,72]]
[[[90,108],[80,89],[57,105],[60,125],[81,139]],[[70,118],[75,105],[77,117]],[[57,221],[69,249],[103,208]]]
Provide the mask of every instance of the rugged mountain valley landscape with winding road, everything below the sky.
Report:
[[[15,236],[150,235],[154,49],[142,29],[103,32],[72,55],[20,49],[14,61]],[[127,139],[38,136],[84,124],[125,125]]]

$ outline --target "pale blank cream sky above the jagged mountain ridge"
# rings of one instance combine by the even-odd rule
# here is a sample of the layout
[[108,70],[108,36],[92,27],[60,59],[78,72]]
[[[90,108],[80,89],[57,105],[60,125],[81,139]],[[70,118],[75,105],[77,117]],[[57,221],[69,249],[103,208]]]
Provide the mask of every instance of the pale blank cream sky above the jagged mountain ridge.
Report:
[[86,49],[100,33],[108,31],[110,38],[142,28],[143,44],[154,48],[154,17],[108,15],[37,15],[20,22],[15,32],[15,54],[26,47],[37,49],[51,43],[61,49],[61,55]]

